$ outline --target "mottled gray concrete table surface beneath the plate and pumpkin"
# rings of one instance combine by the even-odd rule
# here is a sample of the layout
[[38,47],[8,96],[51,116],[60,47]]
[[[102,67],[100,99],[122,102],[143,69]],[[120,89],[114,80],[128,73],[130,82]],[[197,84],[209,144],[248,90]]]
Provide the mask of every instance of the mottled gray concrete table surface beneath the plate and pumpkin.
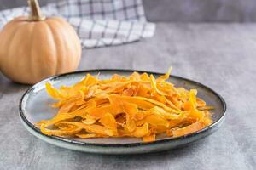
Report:
[[[188,77],[227,102],[224,125],[177,150],[104,156],[47,144],[22,126],[18,104],[29,86],[0,74],[0,169],[255,169],[256,24],[167,24],[153,38],[83,51],[79,70],[117,68]],[[22,76],[22,75],[20,75]]]

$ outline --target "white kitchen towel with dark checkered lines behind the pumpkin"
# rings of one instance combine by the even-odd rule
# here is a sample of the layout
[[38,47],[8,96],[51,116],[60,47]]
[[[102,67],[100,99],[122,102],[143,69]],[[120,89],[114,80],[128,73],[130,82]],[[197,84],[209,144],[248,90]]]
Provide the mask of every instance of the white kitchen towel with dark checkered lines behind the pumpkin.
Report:
[[[1,11],[0,28],[28,13],[26,7]],[[154,35],[155,26],[146,21],[142,0],[62,0],[44,6],[42,13],[66,18],[78,32],[83,48],[135,42]]]

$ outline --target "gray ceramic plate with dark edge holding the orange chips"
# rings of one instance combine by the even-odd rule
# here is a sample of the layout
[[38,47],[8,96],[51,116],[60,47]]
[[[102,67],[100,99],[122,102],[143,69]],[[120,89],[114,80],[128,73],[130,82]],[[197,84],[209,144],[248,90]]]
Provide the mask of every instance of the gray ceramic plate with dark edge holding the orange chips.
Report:
[[[169,80],[170,82],[174,83],[177,87],[188,89],[196,88],[198,90],[198,96],[201,97],[201,99],[206,100],[207,105],[213,105],[215,107],[214,114],[212,116],[214,121],[212,125],[202,129],[201,131],[190,133],[186,136],[178,138],[170,138],[164,136],[158,137],[156,141],[151,143],[142,143],[141,139],[133,138],[65,139],[56,136],[47,136],[41,133],[40,130],[34,126],[34,123],[39,122],[42,119],[49,119],[56,113],[55,109],[49,107],[49,104],[52,104],[54,100],[50,99],[49,95],[46,93],[44,88],[45,82],[50,82],[55,87],[60,87],[61,85],[72,85],[75,82],[79,82],[79,80],[81,80],[86,75],[86,73],[89,72],[92,75],[96,75],[100,72],[100,78],[108,78],[111,77],[113,73],[129,75],[132,71],[77,71],[60,76],[49,77],[42,82],[38,82],[32,86],[32,88],[28,89],[20,99],[20,118],[26,129],[39,139],[43,139],[49,144],[55,144],[70,150],[80,150],[101,154],[131,154],[169,150],[183,144],[189,144],[190,142],[211,134],[216,129],[218,129],[222,122],[224,122],[224,112],[226,106],[224,99],[220,95],[214,92],[211,88],[207,88],[199,82],[194,82],[183,77],[172,76]],[[155,72],[148,73],[154,74],[155,76],[160,75],[160,73]]]

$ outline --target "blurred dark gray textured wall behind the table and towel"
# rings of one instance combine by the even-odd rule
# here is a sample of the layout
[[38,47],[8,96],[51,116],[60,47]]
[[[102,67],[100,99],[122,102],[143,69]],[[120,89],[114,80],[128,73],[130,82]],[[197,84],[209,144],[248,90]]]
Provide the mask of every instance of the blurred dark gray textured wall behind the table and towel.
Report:
[[[39,0],[39,3],[58,0]],[[143,0],[151,21],[255,22],[255,0]],[[0,0],[0,9],[26,5],[26,0]]]

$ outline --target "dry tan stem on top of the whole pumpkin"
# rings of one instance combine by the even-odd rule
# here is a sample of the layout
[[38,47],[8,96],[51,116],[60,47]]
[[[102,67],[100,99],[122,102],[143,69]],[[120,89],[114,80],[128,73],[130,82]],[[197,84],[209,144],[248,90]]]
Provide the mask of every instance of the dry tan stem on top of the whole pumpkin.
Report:
[[39,7],[38,0],[27,0],[27,3],[30,7],[30,15],[28,17],[28,20],[30,21],[45,20],[45,16],[41,14],[41,9]]

